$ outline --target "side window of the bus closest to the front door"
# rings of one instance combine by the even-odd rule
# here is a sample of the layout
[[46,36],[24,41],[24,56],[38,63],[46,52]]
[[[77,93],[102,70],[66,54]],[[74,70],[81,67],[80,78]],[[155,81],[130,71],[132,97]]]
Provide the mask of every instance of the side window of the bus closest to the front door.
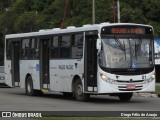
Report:
[[83,56],[83,34],[72,36],[72,58],[82,58]]

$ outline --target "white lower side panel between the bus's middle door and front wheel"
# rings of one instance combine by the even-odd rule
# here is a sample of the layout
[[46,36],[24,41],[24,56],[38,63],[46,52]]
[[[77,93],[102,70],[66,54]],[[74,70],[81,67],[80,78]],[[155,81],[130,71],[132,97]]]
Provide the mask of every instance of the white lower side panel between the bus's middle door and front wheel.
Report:
[[72,92],[72,80],[75,75],[82,77],[82,60],[50,60],[50,90]]

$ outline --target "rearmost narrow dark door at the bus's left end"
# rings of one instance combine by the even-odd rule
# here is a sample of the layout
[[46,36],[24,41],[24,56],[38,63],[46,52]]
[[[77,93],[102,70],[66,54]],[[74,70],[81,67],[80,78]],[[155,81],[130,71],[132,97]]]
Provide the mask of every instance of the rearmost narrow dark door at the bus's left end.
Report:
[[20,59],[20,41],[13,41],[12,57],[11,57],[12,87],[20,86],[19,59]]

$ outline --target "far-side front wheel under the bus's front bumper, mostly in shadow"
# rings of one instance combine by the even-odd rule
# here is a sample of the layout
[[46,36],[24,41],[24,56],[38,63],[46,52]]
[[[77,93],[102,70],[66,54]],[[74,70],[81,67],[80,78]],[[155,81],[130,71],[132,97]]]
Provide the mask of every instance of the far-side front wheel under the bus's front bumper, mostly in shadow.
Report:
[[119,93],[118,94],[118,97],[119,97],[120,101],[122,101],[122,102],[130,101],[132,96],[133,96],[133,93]]

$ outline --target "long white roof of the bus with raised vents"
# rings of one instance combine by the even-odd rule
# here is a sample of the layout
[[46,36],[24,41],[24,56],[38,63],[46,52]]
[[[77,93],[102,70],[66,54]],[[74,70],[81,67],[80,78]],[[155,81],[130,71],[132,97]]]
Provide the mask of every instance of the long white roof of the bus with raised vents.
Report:
[[69,26],[65,29],[61,28],[53,28],[53,29],[44,29],[39,30],[37,32],[28,32],[28,33],[18,33],[18,34],[9,34],[6,35],[6,39],[11,38],[23,38],[23,37],[32,37],[32,36],[45,36],[45,35],[54,35],[54,34],[63,34],[63,33],[70,33],[70,32],[80,32],[80,31],[90,31],[90,30],[98,30],[100,31],[102,27],[104,26],[117,26],[117,25],[136,25],[136,26],[146,26],[146,27],[152,27],[150,25],[144,25],[144,24],[135,24],[135,23],[101,23],[101,24],[87,24],[83,25],[82,27],[74,27]]

